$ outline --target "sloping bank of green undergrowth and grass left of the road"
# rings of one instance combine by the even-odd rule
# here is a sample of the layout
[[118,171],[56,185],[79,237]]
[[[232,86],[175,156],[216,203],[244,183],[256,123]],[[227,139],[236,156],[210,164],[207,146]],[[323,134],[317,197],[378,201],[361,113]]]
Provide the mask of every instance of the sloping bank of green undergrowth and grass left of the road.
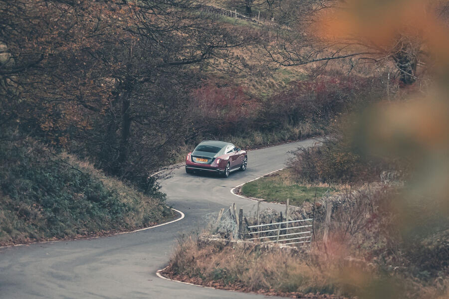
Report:
[[0,245],[126,231],[175,217],[91,164],[34,141],[0,143]]

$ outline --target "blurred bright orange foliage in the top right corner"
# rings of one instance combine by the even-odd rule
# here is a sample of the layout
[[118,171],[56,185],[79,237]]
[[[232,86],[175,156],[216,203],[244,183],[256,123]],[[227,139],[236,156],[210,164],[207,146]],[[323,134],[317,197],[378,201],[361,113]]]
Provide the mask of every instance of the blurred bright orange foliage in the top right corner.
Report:
[[369,40],[380,48],[394,48],[398,37],[425,42],[422,48],[449,66],[448,26],[438,15],[446,1],[350,0],[343,9],[323,10],[315,30],[330,40]]

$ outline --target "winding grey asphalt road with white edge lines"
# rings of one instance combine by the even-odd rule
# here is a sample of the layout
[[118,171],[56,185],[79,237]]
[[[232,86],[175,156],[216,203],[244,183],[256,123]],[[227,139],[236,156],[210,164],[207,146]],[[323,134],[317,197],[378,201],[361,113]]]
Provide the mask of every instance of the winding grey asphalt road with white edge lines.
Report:
[[[232,202],[245,212],[254,210],[255,202],[231,194],[231,188],[284,167],[288,151],[314,142],[249,151],[247,170],[228,178],[175,169],[162,181],[162,191],[169,205],[185,213],[181,221],[112,237],[2,248],[0,298],[261,298],[163,280],[156,271],[167,265],[177,237],[198,229],[204,215]],[[279,208],[263,204],[268,206]]]

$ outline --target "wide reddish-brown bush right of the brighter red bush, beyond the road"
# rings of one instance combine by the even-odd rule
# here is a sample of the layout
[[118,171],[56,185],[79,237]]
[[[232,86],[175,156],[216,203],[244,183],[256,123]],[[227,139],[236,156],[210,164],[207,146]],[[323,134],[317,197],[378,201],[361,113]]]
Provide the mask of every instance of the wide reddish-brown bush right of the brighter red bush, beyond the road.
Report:
[[[360,76],[320,76],[298,81],[287,91],[272,96],[263,106],[262,127],[275,127],[284,122],[324,123],[337,113],[356,108],[373,96],[381,98],[385,83],[380,78]],[[270,120],[265,122],[265,120]]]

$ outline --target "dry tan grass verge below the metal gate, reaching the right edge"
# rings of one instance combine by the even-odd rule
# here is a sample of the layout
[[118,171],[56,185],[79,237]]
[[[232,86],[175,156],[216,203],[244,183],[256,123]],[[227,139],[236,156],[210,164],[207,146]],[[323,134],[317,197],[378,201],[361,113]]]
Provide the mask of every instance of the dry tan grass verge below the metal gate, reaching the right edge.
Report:
[[209,287],[294,298],[447,298],[447,278],[423,283],[385,274],[363,257],[348,257],[348,248],[335,240],[328,246],[327,253],[314,246],[308,253],[291,255],[261,252],[256,246],[200,246],[188,237],[175,250],[164,274]]

